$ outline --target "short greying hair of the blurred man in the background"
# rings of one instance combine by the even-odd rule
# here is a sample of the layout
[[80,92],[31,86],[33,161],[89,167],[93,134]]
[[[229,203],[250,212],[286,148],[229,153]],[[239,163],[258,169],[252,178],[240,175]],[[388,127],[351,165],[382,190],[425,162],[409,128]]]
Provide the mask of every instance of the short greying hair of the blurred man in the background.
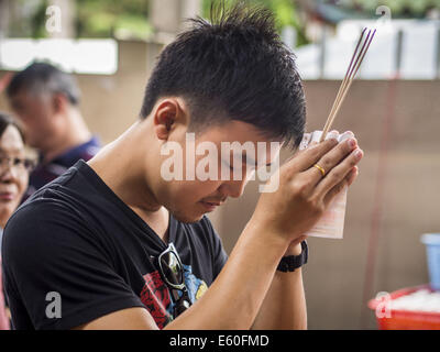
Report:
[[34,94],[64,94],[72,105],[79,105],[80,92],[75,79],[47,63],[35,62],[13,76],[7,88],[8,97],[12,98],[22,90]]

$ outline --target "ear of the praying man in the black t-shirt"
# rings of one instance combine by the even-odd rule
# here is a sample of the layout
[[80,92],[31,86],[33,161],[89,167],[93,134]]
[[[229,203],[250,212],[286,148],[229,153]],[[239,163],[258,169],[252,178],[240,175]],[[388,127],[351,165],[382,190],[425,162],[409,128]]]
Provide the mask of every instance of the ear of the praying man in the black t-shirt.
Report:
[[158,103],[153,120],[157,138],[167,140],[177,123],[185,123],[185,111],[177,99],[167,98]]

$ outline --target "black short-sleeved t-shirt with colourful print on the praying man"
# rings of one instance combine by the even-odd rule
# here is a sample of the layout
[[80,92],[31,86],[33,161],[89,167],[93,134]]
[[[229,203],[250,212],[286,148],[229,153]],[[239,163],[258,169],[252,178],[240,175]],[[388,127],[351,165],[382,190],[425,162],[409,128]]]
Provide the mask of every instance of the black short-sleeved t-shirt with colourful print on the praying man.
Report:
[[[207,217],[183,223],[169,216],[168,231],[195,301],[227,254]],[[166,248],[92,168],[77,162],[22,205],[4,229],[3,279],[13,328],[70,329],[144,307],[162,329],[173,319],[174,304],[153,256]]]

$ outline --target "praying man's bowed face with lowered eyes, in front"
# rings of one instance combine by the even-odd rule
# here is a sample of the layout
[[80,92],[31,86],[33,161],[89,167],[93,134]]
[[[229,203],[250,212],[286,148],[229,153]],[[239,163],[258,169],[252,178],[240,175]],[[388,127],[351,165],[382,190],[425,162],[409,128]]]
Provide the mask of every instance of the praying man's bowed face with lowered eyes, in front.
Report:
[[[187,132],[186,129],[182,128],[180,131],[176,131],[173,134],[172,141],[182,146],[183,179],[166,180],[169,177],[166,172],[168,174],[169,170],[176,173],[176,168],[168,167],[168,162],[177,153],[162,155],[161,186],[157,195],[161,204],[175,218],[184,222],[200,220],[205,213],[213,211],[222,205],[228,197],[240,197],[249,178],[253,176],[255,170],[271,164],[279,153],[278,147],[275,148],[275,152],[272,150],[271,155],[271,141],[263,138],[253,125],[241,121],[230,121],[198,132],[195,134],[195,143],[193,145],[188,143],[190,139],[188,139],[189,134]],[[235,147],[222,151],[222,145],[224,147],[226,142],[235,142]],[[260,151],[257,143],[260,144]],[[252,152],[252,147],[248,150],[240,147],[245,145],[252,145],[254,152]],[[263,145],[264,150],[262,148]],[[204,148],[204,146],[207,146],[207,148]],[[205,150],[204,154],[195,155],[202,150]],[[217,153],[213,153],[215,150]],[[174,158],[175,161],[177,158]],[[249,165],[248,167],[246,164]],[[213,179],[216,177],[212,176],[216,174],[217,179]]]

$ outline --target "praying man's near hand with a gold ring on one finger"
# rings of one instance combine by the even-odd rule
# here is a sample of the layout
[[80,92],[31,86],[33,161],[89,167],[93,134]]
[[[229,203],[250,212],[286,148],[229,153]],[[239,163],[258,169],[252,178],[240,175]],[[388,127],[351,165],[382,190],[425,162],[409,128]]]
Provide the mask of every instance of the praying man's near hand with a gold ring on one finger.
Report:
[[354,138],[341,143],[330,139],[298,153],[279,168],[279,175],[273,175],[279,176],[279,187],[262,194],[251,221],[284,240],[286,254],[294,254],[288,252],[296,251],[334,196],[353,183],[362,156]]

